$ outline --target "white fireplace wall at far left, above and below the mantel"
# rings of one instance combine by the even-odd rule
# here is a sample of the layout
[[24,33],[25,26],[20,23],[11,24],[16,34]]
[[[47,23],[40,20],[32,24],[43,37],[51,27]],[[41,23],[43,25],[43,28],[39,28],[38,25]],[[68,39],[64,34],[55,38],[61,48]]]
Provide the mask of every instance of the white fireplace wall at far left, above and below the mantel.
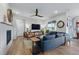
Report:
[[[0,3],[0,22],[4,22],[4,14],[6,14],[6,11],[8,9],[8,4],[6,3]],[[12,30],[12,38],[9,44],[7,45],[6,42],[6,31]],[[0,23],[0,55],[5,54],[8,47],[11,45],[13,41],[13,26],[5,25],[3,23]]]

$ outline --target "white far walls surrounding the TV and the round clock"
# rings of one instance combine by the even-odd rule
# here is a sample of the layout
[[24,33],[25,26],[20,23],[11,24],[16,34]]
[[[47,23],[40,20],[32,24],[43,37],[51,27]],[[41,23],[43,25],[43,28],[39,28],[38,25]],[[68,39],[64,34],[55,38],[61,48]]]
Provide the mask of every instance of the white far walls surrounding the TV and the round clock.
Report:
[[[65,26],[63,28],[57,28],[57,31],[59,32],[66,32],[66,25],[67,25],[67,16],[66,13],[58,15],[52,19],[48,19],[48,20],[42,20],[42,19],[34,19],[34,18],[25,18],[23,16],[20,15],[15,15],[14,16],[14,27],[16,28],[16,36],[22,36],[23,32],[24,32],[24,22],[25,22],[25,26],[29,27],[29,30],[31,30],[31,24],[40,24],[41,25],[41,29],[45,28],[48,21],[52,21],[52,20],[56,20],[56,23],[59,20],[64,21]],[[25,28],[25,31],[27,31],[27,28]]]

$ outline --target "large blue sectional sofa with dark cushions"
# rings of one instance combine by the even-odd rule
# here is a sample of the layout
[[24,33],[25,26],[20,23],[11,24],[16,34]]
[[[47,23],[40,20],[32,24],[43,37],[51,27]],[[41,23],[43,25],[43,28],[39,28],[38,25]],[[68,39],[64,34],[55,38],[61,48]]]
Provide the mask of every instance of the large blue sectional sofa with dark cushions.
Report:
[[56,47],[65,43],[64,32],[50,32],[43,37],[41,41],[42,51],[55,49]]

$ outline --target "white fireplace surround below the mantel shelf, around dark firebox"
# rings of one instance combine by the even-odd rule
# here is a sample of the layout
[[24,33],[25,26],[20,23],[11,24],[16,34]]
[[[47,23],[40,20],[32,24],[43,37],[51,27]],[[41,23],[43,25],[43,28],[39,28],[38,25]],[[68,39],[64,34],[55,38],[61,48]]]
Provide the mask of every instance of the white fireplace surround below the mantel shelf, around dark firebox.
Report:
[[[11,30],[11,40],[7,45],[6,31]],[[5,23],[0,23],[0,55],[6,54],[7,48],[11,45],[13,41],[13,26],[7,25]]]

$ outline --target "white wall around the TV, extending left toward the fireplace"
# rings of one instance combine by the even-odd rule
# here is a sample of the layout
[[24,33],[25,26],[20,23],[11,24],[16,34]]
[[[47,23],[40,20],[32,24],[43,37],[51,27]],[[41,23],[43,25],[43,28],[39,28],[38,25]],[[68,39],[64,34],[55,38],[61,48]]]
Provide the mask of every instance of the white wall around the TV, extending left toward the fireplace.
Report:
[[44,28],[47,24],[46,20],[36,19],[36,18],[28,18],[20,15],[14,14],[13,26],[15,28],[15,36],[22,36],[24,32],[24,22],[25,22],[25,31],[27,31],[27,27],[31,30],[31,24],[40,24],[41,29]]

